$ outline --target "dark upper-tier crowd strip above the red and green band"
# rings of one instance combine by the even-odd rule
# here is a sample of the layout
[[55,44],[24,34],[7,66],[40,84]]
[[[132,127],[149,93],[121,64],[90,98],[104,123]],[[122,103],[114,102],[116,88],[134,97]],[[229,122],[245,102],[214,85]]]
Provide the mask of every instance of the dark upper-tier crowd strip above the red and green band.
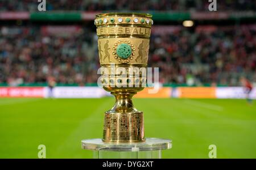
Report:
[[[139,4],[139,5],[138,5]],[[254,0],[221,0],[217,1],[218,11],[256,10]],[[208,10],[209,2],[201,0],[47,0],[47,11],[51,10],[132,10],[132,11],[184,11]],[[36,11],[35,0],[10,1],[1,0],[1,11]]]

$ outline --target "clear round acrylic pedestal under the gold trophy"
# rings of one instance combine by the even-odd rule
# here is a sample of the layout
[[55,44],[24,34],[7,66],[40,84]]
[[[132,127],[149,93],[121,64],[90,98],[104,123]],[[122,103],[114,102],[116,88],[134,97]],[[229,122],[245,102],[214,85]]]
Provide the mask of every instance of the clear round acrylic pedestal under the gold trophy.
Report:
[[82,148],[93,151],[93,158],[99,159],[160,159],[162,150],[170,149],[169,139],[146,138],[144,142],[110,143],[101,139],[82,140]]

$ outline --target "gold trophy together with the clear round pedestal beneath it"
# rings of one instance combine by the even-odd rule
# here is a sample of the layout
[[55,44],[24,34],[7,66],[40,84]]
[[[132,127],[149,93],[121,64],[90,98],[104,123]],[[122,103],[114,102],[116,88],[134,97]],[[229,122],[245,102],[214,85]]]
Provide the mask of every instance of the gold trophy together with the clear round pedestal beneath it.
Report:
[[83,140],[82,148],[96,151],[96,158],[160,158],[171,141],[145,138],[143,112],[131,100],[146,87],[152,15],[98,14],[94,24],[101,64],[98,83],[115,96],[115,104],[105,112],[103,138]]

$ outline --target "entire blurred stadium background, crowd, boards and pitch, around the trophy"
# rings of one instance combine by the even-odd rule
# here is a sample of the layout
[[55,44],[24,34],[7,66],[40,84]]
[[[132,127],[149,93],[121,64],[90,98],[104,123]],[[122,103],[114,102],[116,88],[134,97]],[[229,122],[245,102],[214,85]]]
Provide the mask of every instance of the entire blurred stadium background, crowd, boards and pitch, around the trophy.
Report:
[[101,137],[114,104],[97,87],[102,12],[153,15],[148,66],[159,67],[162,88],[135,105],[147,136],[176,140],[164,158],[208,158],[214,142],[219,158],[256,158],[255,104],[238,100],[256,99],[245,92],[256,83],[256,1],[216,2],[209,11],[206,0],[46,0],[38,11],[36,0],[0,0],[0,158],[35,158],[40,143],[48,158],[90,158],[79,142]]

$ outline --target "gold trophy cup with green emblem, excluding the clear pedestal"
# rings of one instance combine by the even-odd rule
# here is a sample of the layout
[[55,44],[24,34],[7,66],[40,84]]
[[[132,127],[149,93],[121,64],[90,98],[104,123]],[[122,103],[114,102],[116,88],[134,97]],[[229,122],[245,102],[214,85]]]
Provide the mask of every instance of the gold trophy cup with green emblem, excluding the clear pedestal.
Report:
[[146,85],[151,18],[138,13],[96,15],[100,80],[115,96],[114,107],[105,112],[104,142],[145,140],[143,112],[134,107],[131,98]]

